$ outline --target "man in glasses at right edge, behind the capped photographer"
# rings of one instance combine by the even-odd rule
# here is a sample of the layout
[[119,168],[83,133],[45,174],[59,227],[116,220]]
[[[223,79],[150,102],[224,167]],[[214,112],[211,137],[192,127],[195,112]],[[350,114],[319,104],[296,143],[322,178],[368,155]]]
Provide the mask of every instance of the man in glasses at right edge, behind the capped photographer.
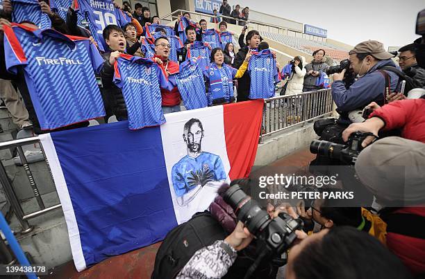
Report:
[[415,44],[408,44],[399,49],[400,68],[410,78],[416,80],[422,87],[425,86],[425,69],[419,67],[416,61]]

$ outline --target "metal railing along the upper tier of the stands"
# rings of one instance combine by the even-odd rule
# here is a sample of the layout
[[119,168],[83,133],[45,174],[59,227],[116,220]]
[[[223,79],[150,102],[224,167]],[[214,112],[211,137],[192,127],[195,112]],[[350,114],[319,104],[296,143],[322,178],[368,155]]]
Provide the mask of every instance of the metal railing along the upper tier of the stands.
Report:
[[[208,14],[204,14],[202,12],[191,12],[190,10],[175,10],[174,12],[170,12],[168,15],[161,17],[160,19],[164,20],[164,21],[172,22],[172,21],[178,19],[179,15],[183,16],[184,12],[188,12],[191,15],[191,17],[192,17],[192,15],[196,15],[198,17],[197,20],[196,20],[197,22],[199,22],[199,20],[201,20],[201,19],[206,19],[206,21],[210,22],[210,18],[214,17],[214,15],[208,15]],[[228,19],[228,21],[230,21],[230,22],[235,22],[235,25],[239,25],[240,22],[243,22],[244,25],[249,25],[250,28],[253,28],[253,29],[256,29],[256,30],[260,29],[260,28],[258,28],[258,26],[265,26],[265,27],[268,28],[268,30],[269,30],[268,32],[270,32],[270,30],[271,30],[270,28],[276,28],[278,30],[290,30],[290,31],[295,32],[295,33],[301,33],[301,32],[299,32],[299,30],[294,30],[292,28],[285,28],[285,27],[282,27],[282,26],[274,25],[274,24],[267,24],[267,23],[261,22],[261,21],[253,21],[253,20],[246,21],[246,20],[243,20],[243,19],[236,19],[235,17],[226,17],[224,15],[219,15],[219,17],[221,19]]]

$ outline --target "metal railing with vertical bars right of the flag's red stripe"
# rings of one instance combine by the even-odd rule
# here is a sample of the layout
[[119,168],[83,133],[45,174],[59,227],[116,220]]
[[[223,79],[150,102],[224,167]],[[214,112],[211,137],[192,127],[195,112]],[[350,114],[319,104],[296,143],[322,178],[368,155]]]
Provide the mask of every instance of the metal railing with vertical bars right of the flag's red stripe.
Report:
[[260,142],[264,136],[305,125],[315,118],[331,116],[333,111],[331,89],[278,96],[264,102]]

